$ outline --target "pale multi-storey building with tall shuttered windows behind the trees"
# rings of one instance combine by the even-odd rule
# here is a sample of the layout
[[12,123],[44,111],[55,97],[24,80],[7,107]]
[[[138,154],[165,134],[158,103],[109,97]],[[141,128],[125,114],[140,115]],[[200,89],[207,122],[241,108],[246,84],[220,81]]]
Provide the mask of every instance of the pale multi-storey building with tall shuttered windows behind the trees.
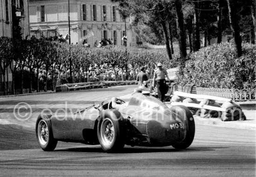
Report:
[[[36,38],[65,36],[70,26],[71,43],[81,44],[84,39],[91,46],[103,38],[123,45],[121,38],[128,36],[127,46],[136,44],[132,19],[122,19],[117,3],[110,0],[29,0],[31,36]],[[68,13],[69,12],[69,13]],[[68,14],[70,25],[68,24]],[[88,35],[88,36],[87,36]],[[87,37],[85,37],[87,36]]]

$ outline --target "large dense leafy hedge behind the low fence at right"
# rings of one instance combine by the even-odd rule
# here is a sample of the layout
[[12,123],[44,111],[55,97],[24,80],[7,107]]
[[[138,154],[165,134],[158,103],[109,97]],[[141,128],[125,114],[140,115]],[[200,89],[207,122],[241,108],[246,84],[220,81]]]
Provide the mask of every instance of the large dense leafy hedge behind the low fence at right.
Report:
[[177,82],[208,88],[255,88],[256,45],[243,44],[242,57],[236,57],[233,43],[214,44],[188,56],[180,65]]

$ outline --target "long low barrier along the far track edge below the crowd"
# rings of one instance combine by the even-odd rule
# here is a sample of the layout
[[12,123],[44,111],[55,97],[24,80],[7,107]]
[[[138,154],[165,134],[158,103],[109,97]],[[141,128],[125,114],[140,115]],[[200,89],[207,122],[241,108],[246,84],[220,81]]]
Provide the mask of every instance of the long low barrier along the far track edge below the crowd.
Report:
[[72,90],[106,88],[117,85],[135,85],[137,81],[103,81],[103,82],[83,82],[83,83],[67,83],[56,86],[56,92],[66,92]]

